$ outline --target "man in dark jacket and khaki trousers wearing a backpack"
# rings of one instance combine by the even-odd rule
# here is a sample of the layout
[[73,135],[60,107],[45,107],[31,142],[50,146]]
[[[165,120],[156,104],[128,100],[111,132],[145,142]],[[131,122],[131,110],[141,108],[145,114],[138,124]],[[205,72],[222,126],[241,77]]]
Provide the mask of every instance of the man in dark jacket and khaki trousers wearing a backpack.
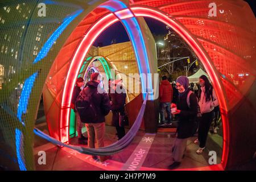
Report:
[[[105,115],[108,115],[110,111],[108,93],[99,85],[100,79],[98,77],[99,73],[92,73],[90,81],[87,82],[86,87],[80,93],[83,98],[90,97],[90,105],[97,113],[97,121],[85,123],[89,148],[95,148],[95,143],[97,148],[104,147]],[[97,159],[97,156],[93,156],[93,159]],[[106,159],[106,156],[100,156],[101,162]]]

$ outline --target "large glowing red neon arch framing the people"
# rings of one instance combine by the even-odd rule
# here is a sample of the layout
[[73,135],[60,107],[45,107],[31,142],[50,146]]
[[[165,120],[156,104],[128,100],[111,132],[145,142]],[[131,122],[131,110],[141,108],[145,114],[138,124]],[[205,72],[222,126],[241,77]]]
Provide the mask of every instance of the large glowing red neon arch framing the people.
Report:
[[[108,5],[110,6],[110,2],[108,2]],[[103,6],[101,6],[103,7]],[[110,8],[108,8],[110,9]],[[111,10],[111,9],[110,9]],[[228,122],[228,110],[232,108],[232,104],[227,102],[226,98],[227,92],[223,88],[228,88],[232,86],[232,83],[226,79],[227,76],[224,74],[220,74],[219,71],[217,71],[216,67],[212,63],[212,57],[209,56],[208,50],[205,48],[204,44],[205,40],[197,38],[195,35],[191,34],[187,27],[184,27],[183,24],[180,22],[177,22],[174,16],[166,15],[162,9],[161,11],[156,10],[154,8],[149,7],[142,7],[142,6],[131,6],[130,8],[124,8],[122,10],[112,10],[117,11],[115,13],[109,13],[103,16],[102,18],[98,19],[96,23],[93,24],[92,27],[90,27],[89,31],[86,33],[85,37],[82,39],[81,43],[79,44],[79,47],[75,51],[75,56],[73,57],[71,67],[69,68],[68,77],[66,80],[67,86],[65,86],[64,89],[64,97],[63,97],[63,108],[61,110],[61,122],[64,122],[65,125],[68,125],[68,115],[69,115],[69,96],[65,93],[70,93],[71,90],[69,88],[72,88],[72,81],[74,80],[74,76],[70,76],[71,72],[73,75],[77,75],[78,67],[72,67],[73,65],[81,65],[81,60],[84,59],[84,56],[86,55],[86,52],[88,52],[89,47],[92,45],[93,41],[97,38],[98,35],[102,31],[105,30],[108,26],[111,24],[118,22],[119,20],[126,19],[126,18],[134,18],[138,16],[147,16],[150,18],[154,18],[156,20],[159,20],[160,22],[163,22],[170,26],[172,29],[174,29],[180,36],[183,38],[189,46],[192,47],[193,51],[195,51],[196,55],[199,57],[199,59],[203,62],[203,65],[207,72],[209,73],[209,76],[213,82],[214,88],[216,88],[216,93],[218,96],[218,99],[220,101],[220,107],[221,107],[221,114],[222,114],[222,121],[223,121],[223,128],[224,128],[224,143],[223,143],[223,155],[222,155],[222,164],[226,166],[226,162],[228,160],[228,154],[229,154],[229,122]],[[205,20],[207,21],[207,20]],[[123,23],[124,26],[127,28],[127,24]],[[129,31],[128,31],[129,32]],[[131,36],[131,35],[130,35]],[[131,38],[131,41],[133,42],[133,39]],[[143,40],[142,40],[143,41]],[[208,45],[207,45],[208,47]],[[220,49],[220,48],[219,48]],[[136,51],[136,50],[135,50]],[[138,59],[139,60],[139,59]],[[240,61],[242,61],[240,59]],[[245,61],[243,61],[245,63]],[[138,63],[139,65],[139,63]],[[142,66],[142,65],[140,65]],[[248,69],[248,67],[247,67]],[[149,71],[151,72],[151,71]],[[252,71],[250,71],[253,73]],[[70,76],[70,77],[69,77]],[[253,76],[253,75],[251,75]],[[248,80],[250,82],[250,85],[253,83],[253,79]],[[70,85],[69,85],[70,84]],[[223,85],[225,84],[225,85]],[[227,85],[228,84],[228,85]],[[234,86],[233,86],[234,88]],[[232,90],[228,88],[229,90]],[[242,93],[240,92],[233,92],[233,96],[236,96],[237,98],[242,97]],[[65,106],[65,107],[64,107]],[[63,129],[63,127],[61,127]],[[65,130],[65,129],[64,129]],[[65,135],[65,131],[60,131],[60,133],[63,133],[63,136]],[[68,137],[68,136],[67,136]],[[67,139],[66,137],[66,139]],[[67,141],[66,139],[62,140],[63,142]]]

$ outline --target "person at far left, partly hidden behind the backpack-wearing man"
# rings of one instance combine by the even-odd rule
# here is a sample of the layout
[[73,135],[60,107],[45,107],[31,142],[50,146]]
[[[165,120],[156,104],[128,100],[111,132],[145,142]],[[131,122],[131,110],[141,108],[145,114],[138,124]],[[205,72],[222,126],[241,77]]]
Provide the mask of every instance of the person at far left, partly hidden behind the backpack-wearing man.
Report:
[[76,102],[77,97],[79,96],[79,93],[81,92],[82,85],[84,85],[84,79],[82,79],[81,77],[77,78],[76,86],[73,89],[71,108],[76,113],[76,126],[77,126],[78,142],[79,142],[79,144],[84,144],[84,143],[87,144],[88,138],[84,137],[84,135],[82,135],[83,123],[81,122],[79,114],[77,113],[77,110],[75,108],[75,102]]

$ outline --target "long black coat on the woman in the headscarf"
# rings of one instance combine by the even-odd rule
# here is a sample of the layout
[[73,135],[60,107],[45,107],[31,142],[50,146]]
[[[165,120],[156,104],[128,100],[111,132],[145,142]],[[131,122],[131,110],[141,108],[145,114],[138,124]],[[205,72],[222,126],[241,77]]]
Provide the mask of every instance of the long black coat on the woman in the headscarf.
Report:
[[177,109],[181,110],[177,125],[177,138],[180,139],[192,137],[193,129],[195,128],[198,103],[196,95],[192,93],[189,97],[190,108],[188,107],[188,92],[189,89],[177,101]]

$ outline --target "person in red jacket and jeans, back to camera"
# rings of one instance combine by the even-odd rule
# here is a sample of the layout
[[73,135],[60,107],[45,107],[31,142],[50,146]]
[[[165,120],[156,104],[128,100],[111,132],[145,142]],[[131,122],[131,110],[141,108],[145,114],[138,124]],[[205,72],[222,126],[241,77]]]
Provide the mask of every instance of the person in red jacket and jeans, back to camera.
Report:
[[167,76],[162,77],[162,82],[159,88],[160,97],[160,125],[163,125],[165,121],[164,111],[167,112],[167,122],[166,125],[172,125],[171,123],[171,102],[174,91],[172,90],[172,85],[167,80]]

